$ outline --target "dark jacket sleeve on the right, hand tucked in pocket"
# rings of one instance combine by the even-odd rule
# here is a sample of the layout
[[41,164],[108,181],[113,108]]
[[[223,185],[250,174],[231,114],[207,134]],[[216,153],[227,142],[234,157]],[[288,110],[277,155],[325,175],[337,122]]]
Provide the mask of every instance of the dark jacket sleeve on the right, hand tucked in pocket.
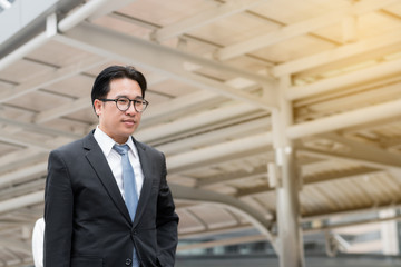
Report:
[[159,248],[158,260],[163,267],[173,267],[178,244],[178,215],[172,192],[167,185],[166,160],[163,155],[163,177],[160,179],[159,195],[157,199],[157,244]]

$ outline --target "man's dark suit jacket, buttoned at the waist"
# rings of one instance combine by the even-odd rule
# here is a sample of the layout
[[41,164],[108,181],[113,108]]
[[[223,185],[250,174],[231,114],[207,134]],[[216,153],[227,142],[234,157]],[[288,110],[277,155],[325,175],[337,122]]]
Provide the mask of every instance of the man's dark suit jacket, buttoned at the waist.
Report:
[[128,210],[94,134],[49,155],[45,190],[45,266],[174,266],[178,216],[165,157],[134,140],[144,172],[137,214]]

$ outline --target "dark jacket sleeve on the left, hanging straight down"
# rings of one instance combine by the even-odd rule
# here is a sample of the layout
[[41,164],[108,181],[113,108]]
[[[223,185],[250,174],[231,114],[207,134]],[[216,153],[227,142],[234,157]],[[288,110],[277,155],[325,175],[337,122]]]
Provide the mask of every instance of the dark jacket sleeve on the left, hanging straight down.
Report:
[[69,267],[74,195],[68,168],[59,151],[49,155],[45,188],[43,266]]

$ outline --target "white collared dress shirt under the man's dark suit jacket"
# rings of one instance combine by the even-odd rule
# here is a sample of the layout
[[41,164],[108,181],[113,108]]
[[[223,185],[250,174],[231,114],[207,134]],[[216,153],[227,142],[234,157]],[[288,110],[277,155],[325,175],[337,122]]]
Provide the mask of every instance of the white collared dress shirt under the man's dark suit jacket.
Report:
[[[102,130],[100,130],[99,127],[96,128],[94,137],[95,137],[96,141],[99,144],[99,146],[107,159],[107,162],[110,166],[113,175],[116,179],[118,189],[120,190],[121,196],[125,199],[121,156],[116,150],[113,149],[113,146],[116,145],[116,141],[113,140]],[[138,150],[135,147],[133,138],[128,138],[126,144],[130,148],[128,150],[128,158],[129,158],[129,161],[130,161],[134,172],[135,172],[135,182],[136,182],[137,194],[138,194],[138,197],[140,197],[140,190],[144,185],[144,172],[140,167]],[[124,145],[124,144],[117,144],[117,145]]]

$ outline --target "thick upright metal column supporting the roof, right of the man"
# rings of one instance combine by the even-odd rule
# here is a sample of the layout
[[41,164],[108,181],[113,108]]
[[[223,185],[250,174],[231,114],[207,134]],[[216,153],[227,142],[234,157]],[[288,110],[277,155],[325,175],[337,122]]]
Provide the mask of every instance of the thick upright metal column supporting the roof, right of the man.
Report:
[[291,101],[285,99],[290,87],[288,76],[280,79],[280,110],[272,111],[273,145],[278,167],[277,228],[280,267],[304,267],[303,240],[300,228],[300,179],[295,162],[293,141],[286,136],[286,129],[293,123]]

